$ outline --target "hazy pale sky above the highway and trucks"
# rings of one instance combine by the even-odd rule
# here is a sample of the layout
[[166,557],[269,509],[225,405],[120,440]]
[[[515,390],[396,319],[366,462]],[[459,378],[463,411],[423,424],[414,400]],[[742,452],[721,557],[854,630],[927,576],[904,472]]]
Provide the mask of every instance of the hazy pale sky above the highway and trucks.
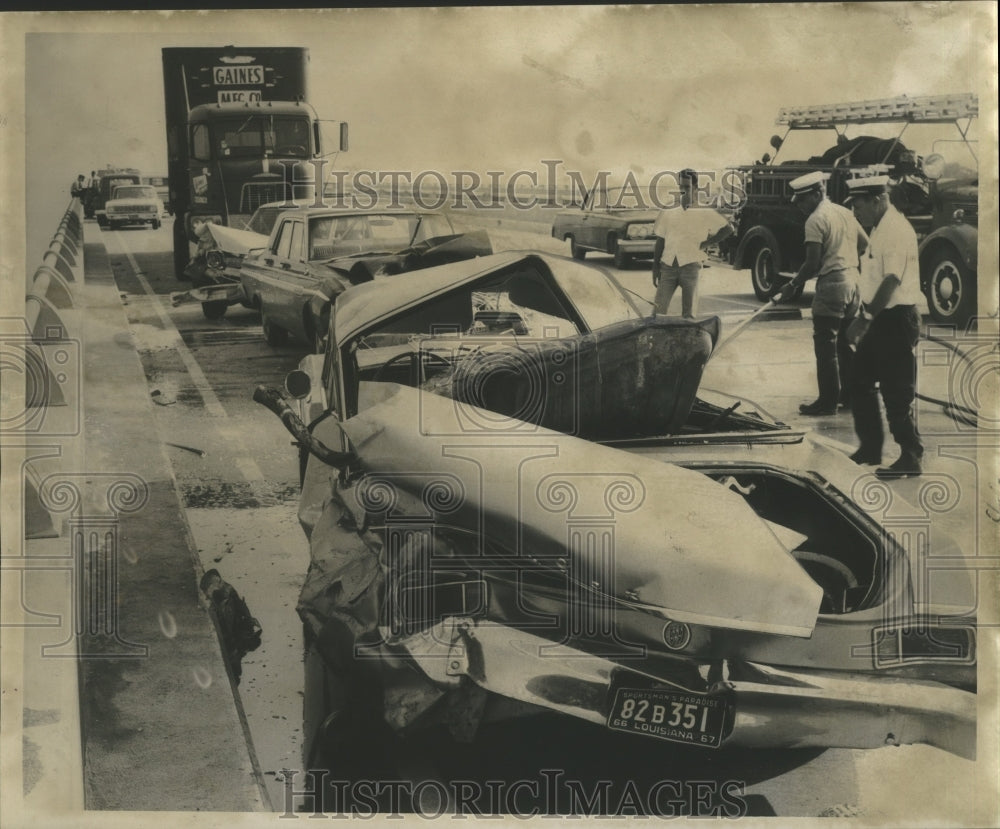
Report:
[[[164,46],[308,47],[312,103],[321,118],[350,124],[350,150],[334,165],[351,171],[509,174],[546,159],[588,180],[598,170],[641,178],[722,169],[769,149],[782,106],[996,96],[993,3],[63,13],[21,22],[37,30],[24,41],[27,180],[67,193],[77,172],[109,162],[165,170]],[[817,151],[832,143],[817,140]]]

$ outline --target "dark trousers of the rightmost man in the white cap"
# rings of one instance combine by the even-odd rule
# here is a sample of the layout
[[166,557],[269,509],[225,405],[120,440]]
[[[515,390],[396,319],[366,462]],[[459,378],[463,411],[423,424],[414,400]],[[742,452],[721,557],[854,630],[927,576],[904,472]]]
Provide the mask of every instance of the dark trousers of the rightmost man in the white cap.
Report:
[[[878,394],[885,403],[889,431],[903,452],[916,458],[924,453],[913,421],[916,395],[920,314],[915,305],[897,305],[872,320],[858,343],[851,377],[851,411],[861,451],[880,454],[884,432]],[[876,388],[877,386],[877,388]]]

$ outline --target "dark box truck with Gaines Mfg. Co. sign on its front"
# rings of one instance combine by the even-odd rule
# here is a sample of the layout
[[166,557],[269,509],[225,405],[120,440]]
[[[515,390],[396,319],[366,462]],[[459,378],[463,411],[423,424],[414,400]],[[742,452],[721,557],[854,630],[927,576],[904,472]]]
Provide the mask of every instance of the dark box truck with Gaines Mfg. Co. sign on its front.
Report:
[[203,223],[243,228],[260,205],[315,192],[309,182],[322,170],[313,163],[322,144],[308,66],[309,50],[300,47],[163,49],[178,279],[190,280],[185,269]]

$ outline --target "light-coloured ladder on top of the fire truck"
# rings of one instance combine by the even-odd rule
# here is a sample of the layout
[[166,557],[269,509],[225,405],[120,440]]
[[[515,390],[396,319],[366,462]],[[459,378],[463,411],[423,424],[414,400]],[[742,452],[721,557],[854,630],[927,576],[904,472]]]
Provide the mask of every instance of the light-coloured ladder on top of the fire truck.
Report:
[[[950,124],[979,115],[979,99],[972,93],[878,98],[846,104],[782,107],[776,124],[789,129],[829,129],[847,124],[905,121],[910,124]],[[968,127],[966,128],[968,129]],[[963,136],[965,131],[962,132]]]

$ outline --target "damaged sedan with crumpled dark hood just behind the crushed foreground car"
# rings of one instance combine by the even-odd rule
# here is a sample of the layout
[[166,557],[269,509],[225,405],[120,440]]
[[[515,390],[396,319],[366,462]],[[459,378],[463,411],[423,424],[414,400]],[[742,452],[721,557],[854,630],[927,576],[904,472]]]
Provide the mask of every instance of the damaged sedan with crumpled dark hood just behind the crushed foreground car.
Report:
[[292,334],[318,349],[330,303],[348,286],[491,253],[485,231],[457,233],[442,213],[302,207],[277,216],[240,279],[270,345]]

